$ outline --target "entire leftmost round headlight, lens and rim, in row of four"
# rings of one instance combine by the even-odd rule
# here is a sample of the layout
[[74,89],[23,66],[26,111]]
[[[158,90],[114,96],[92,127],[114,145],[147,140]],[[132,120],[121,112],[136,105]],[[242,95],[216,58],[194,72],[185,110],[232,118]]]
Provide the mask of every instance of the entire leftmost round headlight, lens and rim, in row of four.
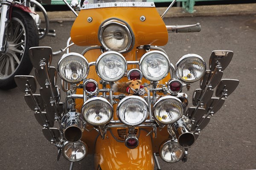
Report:
[[81,54],[68,53],[58,61],[57,69],[60,77],[66,82],[78,83],[87,77],[89,64]]

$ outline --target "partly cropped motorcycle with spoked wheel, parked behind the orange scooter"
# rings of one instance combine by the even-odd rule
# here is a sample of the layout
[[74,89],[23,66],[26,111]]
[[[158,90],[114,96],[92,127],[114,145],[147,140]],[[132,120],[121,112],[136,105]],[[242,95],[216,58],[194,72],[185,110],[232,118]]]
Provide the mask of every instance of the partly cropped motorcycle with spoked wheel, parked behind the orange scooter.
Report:
[[[44,25],[36,8],[44,15]],[[0,89],[7,90],[17,86],[15,75],[28,75],[32,70],[29,48],[55,33],[49,30],[47,12],[36,0],[0,0],[0,12]]]

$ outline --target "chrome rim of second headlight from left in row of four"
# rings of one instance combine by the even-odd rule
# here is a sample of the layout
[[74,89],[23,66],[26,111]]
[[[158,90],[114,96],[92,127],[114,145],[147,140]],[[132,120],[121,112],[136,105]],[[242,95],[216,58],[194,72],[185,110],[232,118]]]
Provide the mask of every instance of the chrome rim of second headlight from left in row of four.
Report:
[[[119,57],[121,57],[121,58],[125,61],[125,70],[124,70],[122,76],[120,75],[118,79],[106,80],[106,79],[102,78],[102,76],[100,75],[100,71],[99,71],[97,65],[99,64],[99,61],[100,61],[103,57],[105,57],[106,55],[108,55],[108,54],[116,54],[116,55],[118,55]],[[116,82],[116,81],[118,81],[119,79],[122,79],[122,77],[124,77],[124,75],[125,75],[125,73],[126,73],[126,71],[127,71],[127,61],[126,61],[125,57],[124,57],[122,54],[120,54],[119,52],[116,52],[116,51],[106,51],[106,52],[102,53],[102,54],[96,59],[96,62],[95,62],[95,70],[96,70],[97,75],[98,75],[101,79],[103,79],[104,81],[106,81],[106,82]]]

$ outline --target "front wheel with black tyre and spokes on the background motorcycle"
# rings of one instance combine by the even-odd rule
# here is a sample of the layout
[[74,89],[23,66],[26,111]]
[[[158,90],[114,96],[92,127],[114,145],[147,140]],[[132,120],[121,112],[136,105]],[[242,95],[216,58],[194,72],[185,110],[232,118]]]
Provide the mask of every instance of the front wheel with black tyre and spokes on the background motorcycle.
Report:
[[0,54],[0,89],[15,88],[16,75],[28,75],[33,66],[29,48],[39,45],[35,20],[26,12],[13,8],[6,26],[6,52]]

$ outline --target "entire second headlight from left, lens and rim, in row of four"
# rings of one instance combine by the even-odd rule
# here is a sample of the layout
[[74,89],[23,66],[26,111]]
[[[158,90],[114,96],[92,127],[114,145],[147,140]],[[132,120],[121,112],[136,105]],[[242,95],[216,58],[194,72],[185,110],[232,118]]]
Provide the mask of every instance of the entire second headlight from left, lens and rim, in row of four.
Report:
[[100,78],[107,82],[115,82],[121,79],[127,69],[127,62],[122,54],[108,51],[96,60],[96,71]]

